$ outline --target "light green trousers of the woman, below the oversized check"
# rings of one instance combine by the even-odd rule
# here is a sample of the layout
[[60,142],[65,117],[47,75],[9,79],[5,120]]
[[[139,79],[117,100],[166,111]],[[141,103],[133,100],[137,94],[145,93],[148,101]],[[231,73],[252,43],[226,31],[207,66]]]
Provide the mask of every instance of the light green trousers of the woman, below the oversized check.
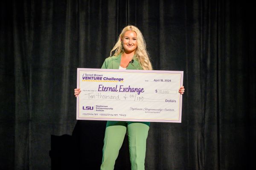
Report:
[[101,170],[113,170],[128,130],[131,170],[144,170],[149,122],[108,121],[102,152]]

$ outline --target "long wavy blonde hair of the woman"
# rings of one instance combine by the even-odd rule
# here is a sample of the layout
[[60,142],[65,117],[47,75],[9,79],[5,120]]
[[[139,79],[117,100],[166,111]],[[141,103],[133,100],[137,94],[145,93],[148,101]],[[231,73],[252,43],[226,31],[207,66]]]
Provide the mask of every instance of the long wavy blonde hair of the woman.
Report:
[[148,51],[146,50],[146,43],[145,43],[144,37],[136,26],[131,26],[131,25],[125,26],[125,28],[122,30],[121,34],[119,35],[115,46],[113,47],[113,49],[111,49],[110,57],[113,56],[112,52],[115,52],[114,56],[124,53],[121,39],[123,38],[123,36],[125,35],[125,32],[127,31],[134,31],[137,34],[137,49],[135,50],[135,57],[138,59],[140,66],[144,70],[152,70],[152,65],[148,56]]

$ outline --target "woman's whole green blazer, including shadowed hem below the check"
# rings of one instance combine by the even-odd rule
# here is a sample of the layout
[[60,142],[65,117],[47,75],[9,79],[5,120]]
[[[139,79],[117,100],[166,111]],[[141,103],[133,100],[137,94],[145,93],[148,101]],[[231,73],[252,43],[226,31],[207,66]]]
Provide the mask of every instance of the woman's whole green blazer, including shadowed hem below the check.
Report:
[[[129,63],[126,69],[143,69],[140,66],[139,61],[137,60],[137,58],[135,58],[135,55],[133,57],[133,62]],[[116,55],[116,56],[112,56],[112,57],[108,57],[105,59],[104,63],[102,64],[102,69],[119,69],[120,66],[120,62],[121,62],[121,54]],[[132,124],[132,123],[138,123],[136,121],[127,121],[128,124]],[[150,122],[140,122],[146,125],[150,125]],[[108,121],[107,123],[107,127],[108,126],[113,126],[119,124],[119,121]]]

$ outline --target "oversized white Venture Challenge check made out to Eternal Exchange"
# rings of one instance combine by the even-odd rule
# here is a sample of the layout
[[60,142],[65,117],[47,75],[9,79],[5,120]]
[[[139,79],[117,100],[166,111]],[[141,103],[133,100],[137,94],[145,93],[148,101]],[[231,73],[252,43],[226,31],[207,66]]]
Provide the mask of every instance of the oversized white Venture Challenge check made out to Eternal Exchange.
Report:
[[77,119],[181,122],[183,71],[77,69]]

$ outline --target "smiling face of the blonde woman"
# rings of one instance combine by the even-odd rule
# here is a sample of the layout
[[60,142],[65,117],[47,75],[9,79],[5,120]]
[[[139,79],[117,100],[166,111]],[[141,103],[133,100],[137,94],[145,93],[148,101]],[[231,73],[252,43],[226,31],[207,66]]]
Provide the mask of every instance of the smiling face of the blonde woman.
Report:
[[137,34],[134,31],[125,32],[121,38],[125,53],[135,52],[137,49]]

